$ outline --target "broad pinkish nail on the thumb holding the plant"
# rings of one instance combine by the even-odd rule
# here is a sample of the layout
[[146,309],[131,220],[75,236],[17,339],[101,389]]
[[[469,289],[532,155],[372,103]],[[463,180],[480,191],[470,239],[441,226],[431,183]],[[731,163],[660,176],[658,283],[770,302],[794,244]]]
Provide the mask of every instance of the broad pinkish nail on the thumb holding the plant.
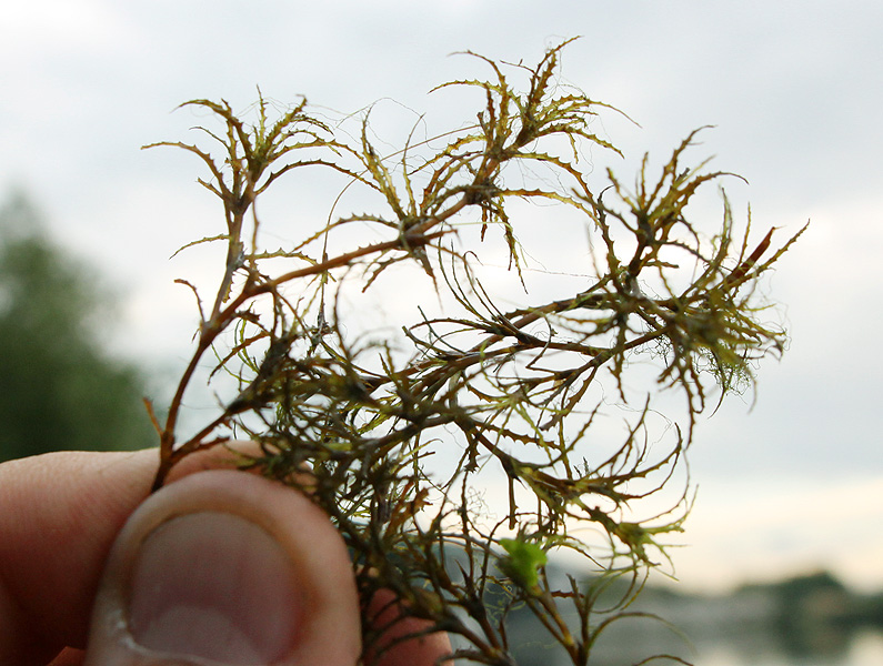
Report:
[[129,630],[158,653],[271,664],[297,639],[299,596],[293,564],[262,527],[229,513],[178,516],[138,553]]

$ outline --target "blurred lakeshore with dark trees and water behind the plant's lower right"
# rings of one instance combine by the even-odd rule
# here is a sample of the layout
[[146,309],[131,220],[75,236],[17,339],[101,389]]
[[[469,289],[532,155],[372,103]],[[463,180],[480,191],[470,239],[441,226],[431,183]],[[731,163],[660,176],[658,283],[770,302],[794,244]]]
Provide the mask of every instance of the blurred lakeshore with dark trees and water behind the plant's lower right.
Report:
[[[596,597],[594,608],[616,607],[616,601],[628,598],[619,583],[603,588],[609,596]],[[579,614],[563,598],[556,605],[579,636]],[[826,572],[726,594],[648,585],[625,616],[605,619],[611,616],[592,615],[590,630],[603,630],[592,643],[590,666],[679,663],[649,659],[653,655],[673,655],[693,666],[883,666],[883,593],[853,593]],[[519,666],[572,665],[526,605],[510,608],[505,627]]]

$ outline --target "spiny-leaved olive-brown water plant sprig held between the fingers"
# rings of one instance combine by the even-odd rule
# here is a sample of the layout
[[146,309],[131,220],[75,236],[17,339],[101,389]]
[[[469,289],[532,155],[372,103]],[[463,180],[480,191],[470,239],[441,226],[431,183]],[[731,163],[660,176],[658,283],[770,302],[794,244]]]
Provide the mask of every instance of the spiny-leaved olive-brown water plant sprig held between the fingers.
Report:
[[[207,144],[162,144],[208,169],[200,183],[222,203],[223,225],[195,242],[222,243],[225,261],[211,300],[181,281],[200,323],[168,417],[154,418],[157,487],[183,457],[245,434],[261,453],[242,467],[308,492],[331,516],[363,598],[394,591],[475,663],[513,664],[506,615],[523,605],[573,664],[588,663],[689,504],[686,490],[668,513],[641,515],[642,502],[673,478],[698,415],[745,389],[755,361],[785,341],[754,287],[794,239],[773,246],[772,230],[757,240],[750,224],[736,235],[725,198],[713,228],[692,219],[696,192],[726,175],[689,164],[695,133],[659,174],[644,159],[634,189],[612,171],[595,184],[586,155],[619,151],[594,120],[618,111],[560,83],[565,43],[535,67],[471,54],[490,77],[433,94],[476,92],[475,120],[412,134],[389,154],[367,113],[348,131],[351,118],[329,120],[305,100],[274,118],[264,98],[250,121],[224,101],[188,102],[219,121],[199,128]],[[363,189],[377,212],[331,215],[290,246],[262,246],[255,201],[314,168]],[[582,271],[553,297],[532,295],[523,202],[571,211],[589,236]],[[502,291],[481,276],[501,249]],[[364,302],[391,289],[413,319],[400,335],[350,329],[353,286]],[[209,357],[237,389],[179,440],[183,396]],[[672,393],[684,416],[660,423],[656,401]],[[616,407],[614,432],[602,422]],[[484,504],[494,480],[508,496],[496,517]],[[586,526],[603,538],[585,537]],[[596,607],[598,589],[573,578],[548,579],[546,554],[565,548],[603,574],[596,586],[633,576],[619,608]]]

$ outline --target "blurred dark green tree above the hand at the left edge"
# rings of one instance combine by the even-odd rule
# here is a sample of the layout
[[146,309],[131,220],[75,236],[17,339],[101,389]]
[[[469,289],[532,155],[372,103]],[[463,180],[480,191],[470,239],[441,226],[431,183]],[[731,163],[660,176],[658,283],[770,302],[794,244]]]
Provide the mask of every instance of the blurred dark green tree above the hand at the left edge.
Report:
[[46,235],[22,195],[0,208],[0,461],[151,444],[143,377],[104,351],[93,274]]

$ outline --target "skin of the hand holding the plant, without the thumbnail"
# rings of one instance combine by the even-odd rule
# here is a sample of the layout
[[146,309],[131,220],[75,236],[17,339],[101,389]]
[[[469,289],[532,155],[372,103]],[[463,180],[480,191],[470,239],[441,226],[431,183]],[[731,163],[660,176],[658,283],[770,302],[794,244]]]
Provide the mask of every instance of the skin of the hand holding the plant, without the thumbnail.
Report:
[[[111,618],[144,535],[170,516],[211,512],[259,525],[294,563],[309,620],[272,663],[353,666],[361,653],[359,601],[343,542],[327,517],[291,488],[229,470],[222,451],[187,458],[146,502],[157,460],[155,451],[68,452],[0,465],[0,663],[195,664],[132,652],[118,635],[124,625]],[[420,628],[408,622],[398,632]],[[445,635],[432,634],[398,645],[378,664],[431,666],[450,649]]]

